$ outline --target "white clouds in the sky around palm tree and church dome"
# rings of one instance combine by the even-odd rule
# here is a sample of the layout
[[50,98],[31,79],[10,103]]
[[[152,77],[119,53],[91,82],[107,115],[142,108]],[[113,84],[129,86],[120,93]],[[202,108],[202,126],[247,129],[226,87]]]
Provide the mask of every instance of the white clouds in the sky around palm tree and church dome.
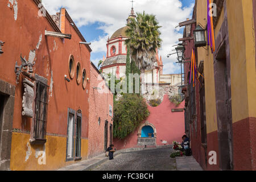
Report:
[[[78,27],[94,22],[104,23],[104,26],[98,28],[104,30],[106,36],[100,35],[92,42],[93,52],[106,52],[106,40],[118,28],[126,25],[131,10],[130,0],[43,0],[43,3],[50,14],[55,14],[60,11],[60,7],[65,7]],[[167,54],[174,49],[172,46],[177,40],[182,38],[183,35],[177,32],[179,28],[175,27],[179,22],[191,18],[192,6],[182,9],[181,2],[177,0],[140,0],[134,3],[135,12],[142,13],[144,10],[147,14],[155,14],[162,26],[160,31],[163,43],[159,55],[162,55],[166,74],[180,69],[179,65],[175,64],[176,56],[168,59]]]

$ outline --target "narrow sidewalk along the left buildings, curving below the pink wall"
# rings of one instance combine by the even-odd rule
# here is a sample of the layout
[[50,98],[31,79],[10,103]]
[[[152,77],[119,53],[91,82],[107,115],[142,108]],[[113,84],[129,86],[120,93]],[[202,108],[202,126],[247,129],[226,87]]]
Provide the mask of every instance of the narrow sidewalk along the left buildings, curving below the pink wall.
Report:
[[[161,146],[156,148],[163,148],[163,147],[171,147],[171,146]],[[118,150],[114,152],[114,158],[118,155],[121,155],[127,152],[134,152],[134,151],[141,151],[141,150],[155,150],[156,148],[128,148],[124,150]],[[82,160],[79,163],[71,164],[69,166],[57,169],[57,171],[90,171],[90,169],[93,169],[108,160],[109,158],[106,157],[105,153],[102,152],[101,155],[95,156],[94,158]]]

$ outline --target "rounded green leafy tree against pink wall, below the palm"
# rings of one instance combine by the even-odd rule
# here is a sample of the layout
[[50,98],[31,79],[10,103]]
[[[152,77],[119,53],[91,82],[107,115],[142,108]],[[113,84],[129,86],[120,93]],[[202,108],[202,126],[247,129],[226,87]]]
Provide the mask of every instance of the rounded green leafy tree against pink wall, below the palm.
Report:
[[113,137],[124,139],[149,115],[146,102],[139,94],[123,94],[114,101]]

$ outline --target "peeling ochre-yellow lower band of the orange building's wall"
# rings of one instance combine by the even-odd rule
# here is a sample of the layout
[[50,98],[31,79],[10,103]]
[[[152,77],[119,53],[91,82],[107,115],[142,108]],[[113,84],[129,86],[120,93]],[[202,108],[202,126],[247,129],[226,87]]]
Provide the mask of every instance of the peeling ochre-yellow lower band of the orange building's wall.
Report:
[[[10,168],[14,171],[55,170],[73,162],[66,162],[66,137],[47,136],[44,145],[31,145],[30,134],[13,133]],[[82,139],[81,156],[88,154],[88,139]]]

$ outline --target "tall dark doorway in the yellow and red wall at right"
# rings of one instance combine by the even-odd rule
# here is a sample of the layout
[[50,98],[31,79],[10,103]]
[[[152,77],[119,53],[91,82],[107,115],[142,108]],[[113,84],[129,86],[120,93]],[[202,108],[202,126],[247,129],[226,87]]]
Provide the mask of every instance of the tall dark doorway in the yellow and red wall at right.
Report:
[[[228,65],[229,64],[229,65]],[[232,105],[230,63],[226,59],[226,43],[217,52],[214,61],[218,148],[221,170],[233,169]]]

